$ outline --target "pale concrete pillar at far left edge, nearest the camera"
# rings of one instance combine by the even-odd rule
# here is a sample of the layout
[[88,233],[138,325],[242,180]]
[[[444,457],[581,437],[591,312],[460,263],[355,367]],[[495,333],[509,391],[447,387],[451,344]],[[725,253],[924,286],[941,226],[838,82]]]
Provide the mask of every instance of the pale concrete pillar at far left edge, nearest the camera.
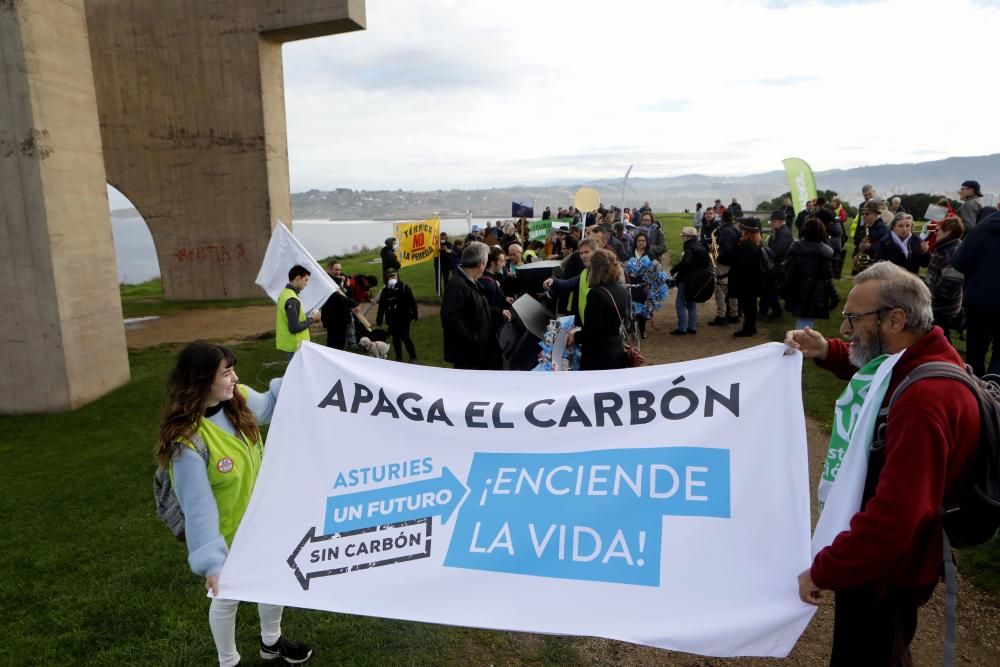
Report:
[[84,0],[0,0],[0,413],[129,379]]

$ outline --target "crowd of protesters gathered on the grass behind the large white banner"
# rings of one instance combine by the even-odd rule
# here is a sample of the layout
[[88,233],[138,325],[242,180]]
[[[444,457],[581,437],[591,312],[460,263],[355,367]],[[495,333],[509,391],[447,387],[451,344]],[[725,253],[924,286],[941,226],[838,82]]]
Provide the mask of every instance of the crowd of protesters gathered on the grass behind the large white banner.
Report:
[[[942,198],[939,204],[946,211],[943,218],[919,229],[913,215],[901,205],[900,197],[886,200],[870,185],[862,188],[861,195],[853,216],[839,197],[808,201],[798,212],[786,198],[767,220],[745,215],[736,197],[728,205],[721,199],[708,206],[698,202],[692,224],[681,234],[675,258],[648,202],[624,209],[601,205],[589,213],[573,206],[559,206],[554,211],[546,207],[541,218],[551,221],[551,227],[538,237],[532,235],[526,218],[487,222],[482,227],[472,225],[469,233],[460,238],[442,233],[434,274],[436,288],[444,294],[445,358],[458,359],[454,363],[459,367],[504,368],[504,355],[495,339],[511,318],[512,303],[531,293],[553,312],[572,315],[580,328],[576,340],[592,341],[592,350],[598,344],[591,335],[581,332],[585,331],[588,306],[597,308],[601,324],[595,328],[619,332],[616,339],[606,338],[600,343],[616,351],[615,359],[596,362],[590,354],[587,367],[624,364],[617,350],[627,341],[620,335],[623,327],[604,326],[613,320],[608,317],[613,314],[608,307],[619,306],[619,321],[638,339],[646,337],[649,319],[654,316],[632,307],[643,302],[650,289],[637,276],[629,275],[626,267],[632,258],[647,258],[647,265],[655,271],[669,272],[677,313],[677,326],[670,334],[675,336],[697,333],[698,303],[690,280],[710,270],[714,276],[714,317],[707,323],[733,326],[732,335],[737,338],[757,335],[759,320],[780,318],[786,312],[795,317],[796,328],[812,327],[816,320],[828,319],[839,303],[834,281],[845,273],[857,274],[876,262],[886,261],[922,274],[933,296],[935,324],[949,339],[955,333],[967,335],[969,363],[985,372],[988,350],[1000,339],[1000,296],[994,296],[1000,295],[1000,290],[985,287],[998,277],[994,272],[1000,270],[994,268],[997,262],[989,261],[1000,255],[988,250],[992,243],[1000,243],[994,241],[1000,236],[1000,219],[994,207],[983,206],[979,184],[962,184],[960,205],[953,206]],[[967,236],[977,226],[981,229],[976,236],[977,247],[968,248]],[[617,270],[610,273],[629,297],[627,301],[620,300],[619,290],[602,284],[611,290],[612,297],[602,291],[596,305],[591,304],[589,296],[596,284],[591,262],[598,251],[607,253],[601,254],[602,261],[606,256],[615,260]],[[402,360],[405,347],[409,360],[415,361],[417,351],[409,327],[417,318],[417,309],[412,291],[398,276],[395,240],[386,239],[380,254],[386,287],[381,292],[384,299],[378,301],[377,326],[384,320],[388,331],[370,327],[364,318],[361,325],[352,316],[359,313],[359,304],[377,298],[373,290],[377,279],[345,276],[339,263],[334,262],[329,272],[343,292],[323,308],[328,344],[384,357],[391,340],[397,360]],[[484,262],[481,267],[480,260]],[[528,274],[525,267],[553,260],[559,264],[548,265],[553,280],[541,286],[543,293],[537,281],[524,278]],[[603,272],[597,281],[610,273]],[[457,279],[465,281],[457,283],[462,289],[449,289]],[[473,291],[482,297],[481,304],[473,304],[479,317],[476,325],[482,325],[482,331],[475,332],[470,325],[462,325],[461,318],[455,319],[463,307],[472,308],[467,301]],[[465,352],[456,352],[455,335],[449,332],[445,315],[468,341],[479,343]],[[477,351],[475,359],[466,358],[472,350]],[[997,370],[996,364],[992,368]]]

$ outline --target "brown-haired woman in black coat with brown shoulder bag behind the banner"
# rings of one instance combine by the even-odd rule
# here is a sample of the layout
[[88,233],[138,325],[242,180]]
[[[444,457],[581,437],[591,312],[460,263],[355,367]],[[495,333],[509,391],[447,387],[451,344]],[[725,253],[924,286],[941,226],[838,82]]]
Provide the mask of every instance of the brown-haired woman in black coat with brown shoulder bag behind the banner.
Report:
[[632,311],[628,289],[621,284],[622,269],[610,250],[597,250],[590,258],[587,307],[582,328],[573,330],[573,340],[582,346],[581,371],[627,368],[623,318]]

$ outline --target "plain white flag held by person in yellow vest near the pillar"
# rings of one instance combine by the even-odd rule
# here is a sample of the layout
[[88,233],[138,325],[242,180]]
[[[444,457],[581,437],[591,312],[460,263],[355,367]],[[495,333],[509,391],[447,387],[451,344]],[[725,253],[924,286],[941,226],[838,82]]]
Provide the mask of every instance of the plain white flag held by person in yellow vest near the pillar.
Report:
[[279,220],[271,231],[271,240],[268,241],[264,261],[254,282],[277,302],[281,290],[288,284],[288,270],[296,264],[304,266],[310,273],[309,284],[299,293],[302,312],[308,314],[323,307],[330,295],[337,291],[337,283],[333,282],[333,278],[313,259],[301,241]]

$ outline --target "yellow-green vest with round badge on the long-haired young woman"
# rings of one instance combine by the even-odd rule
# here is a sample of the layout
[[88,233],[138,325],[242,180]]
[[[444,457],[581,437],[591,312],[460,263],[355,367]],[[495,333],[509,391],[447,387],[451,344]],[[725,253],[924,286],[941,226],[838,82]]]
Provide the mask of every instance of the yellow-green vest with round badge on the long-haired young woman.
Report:
[[[237,391],[246,396],[245,386],[238,385]],[[230,435],[204,417],[198,420],[198,435],[208,449],[208,483],[219,508],[219,532],[231,546],[250,503],[264,443],[261,440],[248,442],[242,434]],[[181,440],[181,444],[195,448],[190,440]],[[173,468],[170,474],[172,480]]]

